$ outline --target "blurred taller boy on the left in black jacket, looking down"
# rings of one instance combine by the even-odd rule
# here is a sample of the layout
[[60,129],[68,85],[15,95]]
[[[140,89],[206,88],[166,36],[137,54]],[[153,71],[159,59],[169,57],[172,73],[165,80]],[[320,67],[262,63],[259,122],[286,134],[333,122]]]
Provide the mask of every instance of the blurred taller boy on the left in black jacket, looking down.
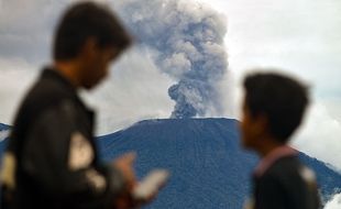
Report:
[[[102,80],[131,38],[107,8],[69,8],[54,37],[51,67],[18,111],[1,170],[1,208],[131,208],[133,154],[101,164],[94,112],[77,95]],[[20,78],[19,78],[20,79]]]

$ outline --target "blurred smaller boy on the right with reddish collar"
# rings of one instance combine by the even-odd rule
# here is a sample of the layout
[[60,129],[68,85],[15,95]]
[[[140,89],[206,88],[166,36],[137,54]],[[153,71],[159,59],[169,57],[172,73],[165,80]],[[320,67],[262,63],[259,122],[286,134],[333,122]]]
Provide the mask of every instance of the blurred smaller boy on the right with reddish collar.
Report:
[[308,105],[307,89],[293,78],[272,73],[244,80],[242,143],[261,162],[253,182],[250,209],[318,209],[315,174],[287,145]]

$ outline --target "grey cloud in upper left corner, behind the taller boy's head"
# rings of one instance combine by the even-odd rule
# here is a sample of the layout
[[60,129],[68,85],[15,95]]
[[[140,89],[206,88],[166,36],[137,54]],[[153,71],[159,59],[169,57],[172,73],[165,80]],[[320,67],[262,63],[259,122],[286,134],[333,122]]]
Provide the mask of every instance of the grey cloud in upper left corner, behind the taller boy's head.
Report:
[[65,7],[65,1],[2,0],[0,56],[21,57],[40,64],[48,61],[53,29]]

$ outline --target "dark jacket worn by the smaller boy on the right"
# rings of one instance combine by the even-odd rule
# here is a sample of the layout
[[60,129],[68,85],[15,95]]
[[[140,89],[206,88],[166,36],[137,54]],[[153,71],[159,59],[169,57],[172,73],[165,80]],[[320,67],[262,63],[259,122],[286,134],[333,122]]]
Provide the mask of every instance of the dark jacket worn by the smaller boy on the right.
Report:
[[318,209],[319,195],[312,170],[298,156],[274,162],[254,176],[254,209]]

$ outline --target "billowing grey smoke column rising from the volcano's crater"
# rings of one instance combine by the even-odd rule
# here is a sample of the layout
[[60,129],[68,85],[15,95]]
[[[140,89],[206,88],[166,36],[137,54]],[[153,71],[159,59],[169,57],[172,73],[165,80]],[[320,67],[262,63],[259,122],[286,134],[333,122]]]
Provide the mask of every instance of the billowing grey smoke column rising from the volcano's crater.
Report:
[[176,85],[170,118],[221,116],[218,84],[227,73],[226,18],[190,0],[119,0],[114,9]]

